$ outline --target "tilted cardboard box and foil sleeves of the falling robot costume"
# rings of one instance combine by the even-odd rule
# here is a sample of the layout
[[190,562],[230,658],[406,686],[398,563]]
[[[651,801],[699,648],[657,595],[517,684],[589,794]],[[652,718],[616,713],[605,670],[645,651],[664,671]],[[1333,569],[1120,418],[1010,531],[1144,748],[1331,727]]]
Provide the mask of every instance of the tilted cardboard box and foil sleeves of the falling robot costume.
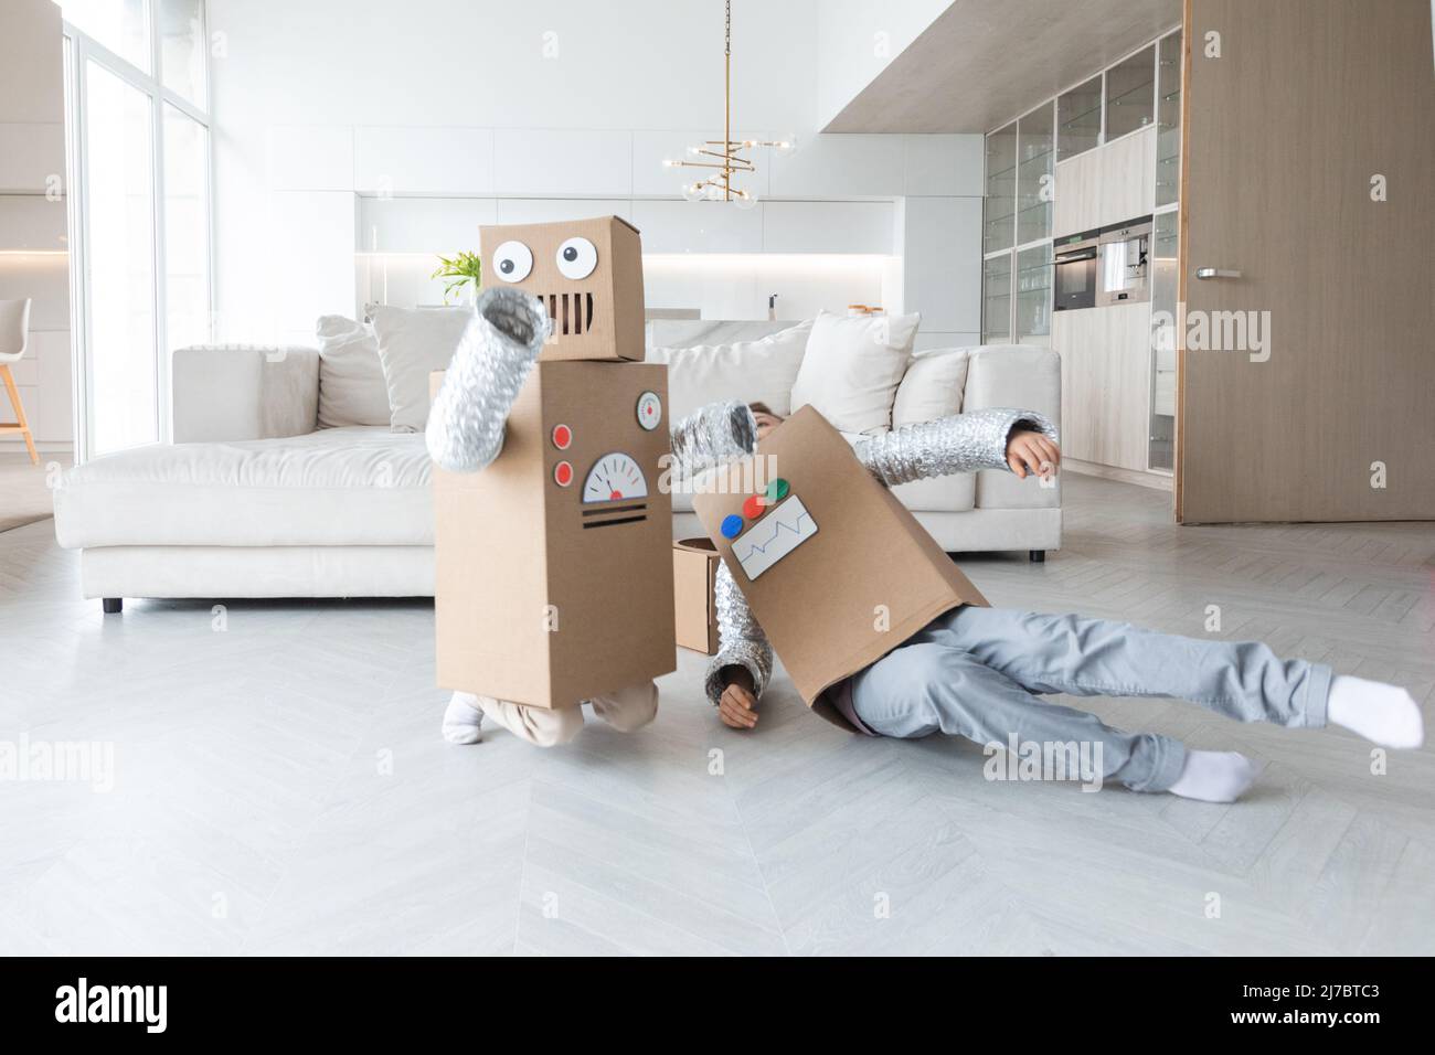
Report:
[[[1004,465],[1017,426],[1056,435],[1036,412],[992,408],[908,425],[854,448],[808,406],[758,446],[776,474],[759,495],[735,488],[696,495],[693,508],[723,555],[716,586],[722,647],[709,666],[707,695],[716,702],[722,670],[735,665],[761,693],[775,646],[806,705],[850,728],[824,690],[943,611],[986,604],[888,487]],[[728,466],[729,478],[761,472],[745,461]],[[883,560],[872,560],[877,553]]]

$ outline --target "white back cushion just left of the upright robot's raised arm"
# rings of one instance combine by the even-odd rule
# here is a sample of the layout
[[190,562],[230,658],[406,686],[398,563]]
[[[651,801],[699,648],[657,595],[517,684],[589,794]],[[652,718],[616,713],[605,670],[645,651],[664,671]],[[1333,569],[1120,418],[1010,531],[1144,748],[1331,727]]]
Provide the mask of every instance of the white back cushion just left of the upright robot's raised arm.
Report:
[[372,316],[393,431],[423,432],[429,421],[429,375],[448,369],[474,309],[377,304]]

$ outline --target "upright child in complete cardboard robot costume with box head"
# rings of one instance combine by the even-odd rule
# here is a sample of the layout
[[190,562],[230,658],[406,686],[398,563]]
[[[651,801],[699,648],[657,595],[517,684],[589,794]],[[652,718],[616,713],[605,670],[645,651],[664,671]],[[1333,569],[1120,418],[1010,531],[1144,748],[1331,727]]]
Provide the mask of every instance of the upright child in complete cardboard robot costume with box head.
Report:
[[666,367],[643,357],[639,234],[617,217],[481,230],[489,287],[443,375],[435,472],[448,739],[542,746],[584,702],[620,729],[674,667]]

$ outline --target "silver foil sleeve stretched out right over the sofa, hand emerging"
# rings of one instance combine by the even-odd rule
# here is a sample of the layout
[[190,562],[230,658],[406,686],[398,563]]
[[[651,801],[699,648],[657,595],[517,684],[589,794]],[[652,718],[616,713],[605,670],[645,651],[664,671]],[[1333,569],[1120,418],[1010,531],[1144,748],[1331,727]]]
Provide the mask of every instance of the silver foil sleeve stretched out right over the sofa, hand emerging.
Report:
[[950,418],[904,425],[857,444],[858,461],[887,487],[977,469],[1010,469],[1006,444],[1012,429],[1056,439],[1056,426],[1035,411],[994,406]]

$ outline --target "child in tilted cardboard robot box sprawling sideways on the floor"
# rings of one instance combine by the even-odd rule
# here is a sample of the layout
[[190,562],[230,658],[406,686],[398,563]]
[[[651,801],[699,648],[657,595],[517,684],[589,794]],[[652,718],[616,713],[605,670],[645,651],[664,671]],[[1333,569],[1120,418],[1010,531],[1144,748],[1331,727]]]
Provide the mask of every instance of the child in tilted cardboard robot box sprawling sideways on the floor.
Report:
[[802,699],[858,732],[954,733],[1022,758],[1035,748],[1042,775],[1207,801],[1238,797],[1254,766],[1234,752],[1121,732],[1039,696],[1175,696],[1238,721],[1319,728],[1329,719],[1386,746],[1419,745],[1419,709],[1396,686],[1332,679],[1322,663],[1281,660],[1256,642],[989,607],[887,488],[1009,468],[1010,438],[1022,431],[1056,439],[1039,413],[983,409],[854,448],[804,408],[756,458],[710,478],[713,489],[693,505],[723,557],[712,702],[743,679],[761,696],[775,647]]

